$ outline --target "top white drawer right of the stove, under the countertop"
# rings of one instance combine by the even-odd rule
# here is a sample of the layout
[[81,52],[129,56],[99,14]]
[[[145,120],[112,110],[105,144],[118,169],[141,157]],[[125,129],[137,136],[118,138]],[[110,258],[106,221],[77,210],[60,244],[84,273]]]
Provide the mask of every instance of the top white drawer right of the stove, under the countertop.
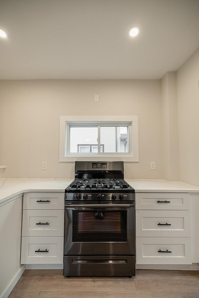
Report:
[[136,193],[136,210],[189,210],[189,193]]

